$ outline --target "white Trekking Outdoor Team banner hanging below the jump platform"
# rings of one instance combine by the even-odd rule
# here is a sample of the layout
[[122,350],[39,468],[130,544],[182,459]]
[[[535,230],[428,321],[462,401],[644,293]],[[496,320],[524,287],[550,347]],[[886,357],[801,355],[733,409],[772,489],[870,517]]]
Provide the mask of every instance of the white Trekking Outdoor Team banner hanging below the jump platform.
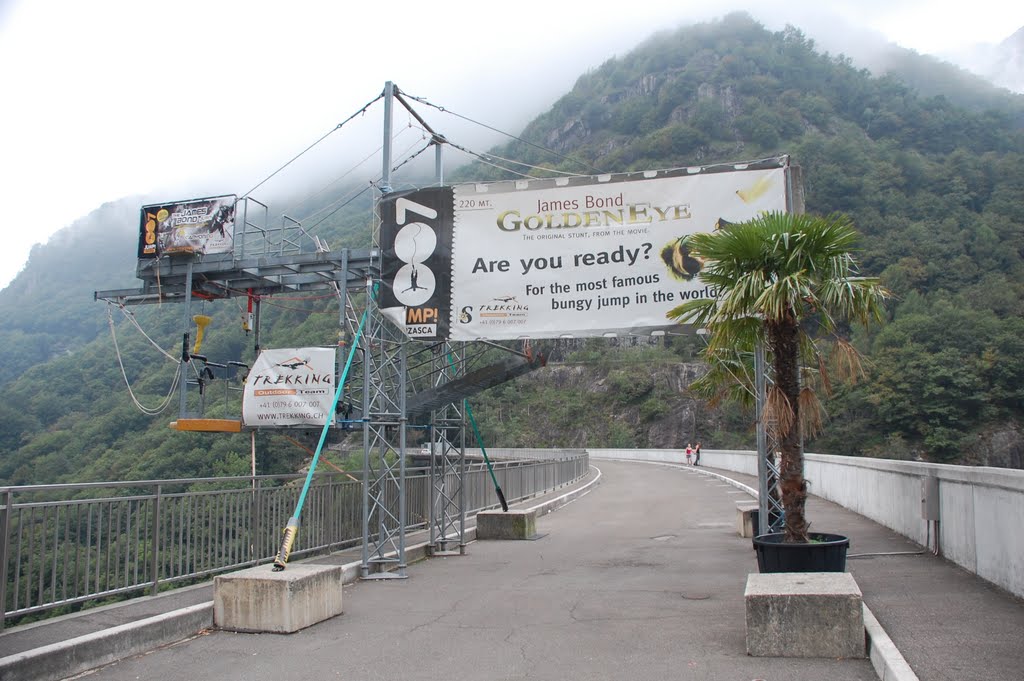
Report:
[[335,349],[263,350],[246,378],[242,422],[249,427],[321,426],[334,403]]

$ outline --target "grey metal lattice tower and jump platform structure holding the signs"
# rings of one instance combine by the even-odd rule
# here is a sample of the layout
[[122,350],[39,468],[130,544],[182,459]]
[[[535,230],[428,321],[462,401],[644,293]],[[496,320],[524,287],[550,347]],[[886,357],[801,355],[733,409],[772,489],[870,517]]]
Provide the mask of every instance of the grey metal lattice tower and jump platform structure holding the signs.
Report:
[[[389,82],[384,91],[381,196],[391,189],[391,109],[395,99],[408,108],[397,88]],[[443,137],[435,134],[433,143],[437,147],[435,165],[439,183],[442,181]],[[94,297],[121,305],[184,303],[182,361],[193,366],[197,375],[202,369],[219,365],[188,351],[194,298],[248,297],[255,301],[253,326],[258,350],[261,299],[275,294],[333,290],[339,299],[338,345],[343,350],[338,358],[339,379],[344,361],[341,355],[347,356],[365,316],[364,332],[358,337],[344,389],[342,403],[346,418],[342,422],[335,419],[333,427],[345,431],[361,429],[362,433],[360,576],[364,579],[400,579],[407,577],[406,465],[411,426],[429,433],[431,551],[434,555],[464,554],[467,427],[464,398],[514,378],[536,365],[526,366],[520,361],[521,366],[511,369],[499,365],[470,375],[470,369],[481,358],[493,358],[492,347],[521,353],[493,343],[474,343],[472,356],[469,356],[469,344],[466,343],[411,341],[380,313],[376,299],[380,281],[379,207],[380,197],[374,205],[373,248],[331,252],[293,218],[283,216],[280,225],[270,225],[267,206],[245,197],[236,206],[231,253],[140,259],[136,275],[142,280],[141,288],[97,291]],[[452,385],[459,378],[462,382]],[[196,385],[202,392],[201,381],[186,379],[180,382],[179,420],[204,416],[202,395],[197,400],[195,395],[188,394],[189,386]],[[411,394],[426,396],[426,402],[420,403],[415,415],[415,424],[410,423],[407,408],[407,397]]]

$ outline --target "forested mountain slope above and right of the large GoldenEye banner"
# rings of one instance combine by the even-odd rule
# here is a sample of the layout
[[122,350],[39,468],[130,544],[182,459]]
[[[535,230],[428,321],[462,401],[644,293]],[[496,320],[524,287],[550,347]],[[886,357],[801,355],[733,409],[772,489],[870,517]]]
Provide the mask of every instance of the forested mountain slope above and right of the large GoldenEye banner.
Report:
[[[912,80],[938,91],[934,60],[913,56]],[[923,96],[735,14],[609,60],[523,136],[615,171],[793,155],[807,210],[850,215],[864,272],[896,296],[885,329],[855,339],[867,380],[828,401],[808,448],[1020,467],[1024,98],[956,105],[959,85]],[[524,144],[501,154],[572,169]]]

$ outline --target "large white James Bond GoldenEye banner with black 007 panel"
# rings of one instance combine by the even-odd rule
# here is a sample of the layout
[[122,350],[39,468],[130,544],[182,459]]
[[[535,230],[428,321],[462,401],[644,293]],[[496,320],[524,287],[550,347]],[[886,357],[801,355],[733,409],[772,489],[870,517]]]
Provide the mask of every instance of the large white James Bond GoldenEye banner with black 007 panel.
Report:
[[[700,281],[702,263],[690,256],[683,238],[786,210],[787,171],[788,158],[782,157],[712,168],[459,184],[450,189],[446,221],[441,217],[446,206],[437,205],[447,201],[443,187],[424,189],[437,213],[429,226],[438,244],[451,245],[451,270],[446,276],[434,271],[439,298],[432,300],[436,314],[446,311],[446,318],[439,318],[431,336],[430,329],[410,325],[400,305],[387,309],[385,302],[402,303],[397,296],[382,299],[381,307],[411,338],[664,330],[674,325],[666,318],[673,307],[716,296]],[[404,193],[399,200],[418,206],[421,194]],[[396,214],[385,214],[382,247],[387,218]],[[393,272],[387,259],[398,255],[385,249],[383,270]],[[385,291],[407,283],[384,278]]]

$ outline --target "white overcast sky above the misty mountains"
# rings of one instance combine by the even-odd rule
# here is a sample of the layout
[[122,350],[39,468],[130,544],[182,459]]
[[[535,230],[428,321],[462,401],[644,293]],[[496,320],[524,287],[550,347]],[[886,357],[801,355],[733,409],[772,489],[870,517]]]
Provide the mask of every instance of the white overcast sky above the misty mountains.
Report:
[[[652,33],[744,8],[825,46],[829,29],[852,35],[838,16],[936,54],[1024,26],[1024,3],[1006,0],[0,0],[0,287],[104,202],[245,193],[385,81],[518,132]],[[331,154],[379,143],[380,115]]]

